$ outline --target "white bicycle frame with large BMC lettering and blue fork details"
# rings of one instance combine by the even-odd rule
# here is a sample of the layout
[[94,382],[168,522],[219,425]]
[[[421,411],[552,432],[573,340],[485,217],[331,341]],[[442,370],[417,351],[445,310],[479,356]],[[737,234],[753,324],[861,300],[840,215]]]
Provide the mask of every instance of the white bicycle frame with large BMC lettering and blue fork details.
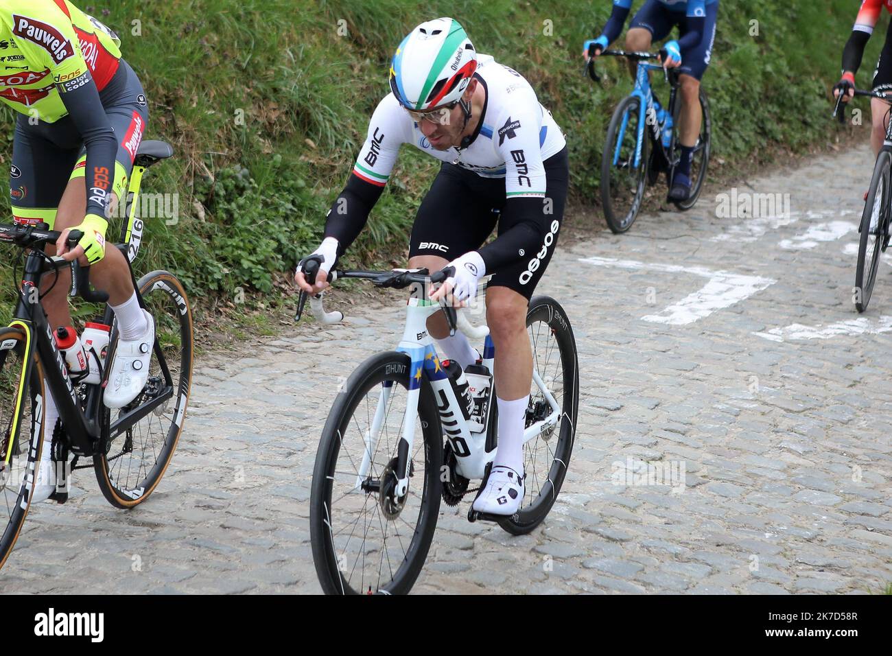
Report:
[[[452,446],[452,452],[457,459],[456,470],[459,475],[466,478],[483,478],[486,466],[495,458],[496,444],[492,441],[487,450],[487,436],[489,430],[472,433],[468,428],[468,422],[461,412],[455,392],[450,384],[449,377],[440,365],[440,358],[434,348],[434,338],[427,332],[427,318],[440,311],[439,303],[434,303],[425,298],[413,296],[409,298],[406,307],[406,326],[403,336],[396,350],[409,355],[411,365],[409,367],[409,394],[406,403],[406,414],[403,418],[403,433],[397,451],[397,476],[398,482],[395,494],[402,496],[409,489],[409,453],[412,453],[412,445],[415,442],[415,424],[418,416],[418,396],[421,393],[421,379],[427,378],[434,388],[437,407],[440,412],[442,428]],[[483,345],[483,366],[490,373],[493,371],[495,347],[491,336],[487,335]],[[524,444],[540,433],[557,425],[560,419],[560,406],[554,395],[549,392],[538,372],[533,370],[533,381],[541,389],[548,400],[551,412],[545,419],[533,423],[524,429]],[[364,436],[366,450],[362,462],[359,465],[356,489],[368,477],[371,466],[371,456],[375,453],[377,437],[384,420],[384,412],[392,394],[393,382],[387,381],[381,389],[375,417],[372,426]],[[490,413],[491,416],[491,413]],[[492,422],[488,421],[491,425]],[[492,428],[495,430],[495,428]]]

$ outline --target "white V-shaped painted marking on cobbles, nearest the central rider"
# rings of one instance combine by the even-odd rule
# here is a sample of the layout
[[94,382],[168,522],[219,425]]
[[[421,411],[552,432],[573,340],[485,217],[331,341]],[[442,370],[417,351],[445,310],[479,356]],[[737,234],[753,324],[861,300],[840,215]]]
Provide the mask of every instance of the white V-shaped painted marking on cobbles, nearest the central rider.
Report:
[[661,273],[688,273],[700,278],[709,278],[701,289],[690,294],[678,303],[673,303],[658,314],[641,317],[643,321],[665,323],[670,326],[683,326],[698,319],[708,317],[716,310],[730,307],[745,298],[772,286],[777,280],[760,276],[744,276],[729,271],[713,271],[704,267],[683,267],[678,264],[647,264],[634,260],[615,260],[607,257],[581,258],[580,262],[597,267],[618,269],[650,270]]

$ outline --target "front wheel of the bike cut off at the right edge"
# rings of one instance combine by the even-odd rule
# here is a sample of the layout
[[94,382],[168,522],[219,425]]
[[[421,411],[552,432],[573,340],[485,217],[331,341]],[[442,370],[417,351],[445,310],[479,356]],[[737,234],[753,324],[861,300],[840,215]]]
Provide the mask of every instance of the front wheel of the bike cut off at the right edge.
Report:
[[855,269],[855,308],[859,312],[867,310],[871,301],[873,283],[880,267],[880,255],[886,245],[889,226],[889,183],[892,168],[892,154],[882,150],[873,166],[871,187],[861,215],[861,240],[858,244],[858,263]]

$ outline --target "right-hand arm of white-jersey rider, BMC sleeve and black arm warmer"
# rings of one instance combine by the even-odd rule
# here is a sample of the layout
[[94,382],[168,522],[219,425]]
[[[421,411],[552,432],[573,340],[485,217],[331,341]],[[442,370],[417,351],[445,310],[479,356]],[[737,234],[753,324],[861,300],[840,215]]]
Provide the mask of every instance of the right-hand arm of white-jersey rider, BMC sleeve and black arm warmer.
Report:
[[[545,166],[542,163],[539,102],[532,91],[516,98],[517,104],[531,106],[531,112],[511,111],[496,120],[503,126],[493,139],[502,139],[499,151],[505,157],[505,193],[508,199],[499,221],[499,237],[479,250],[487,271],[516,262],[541,248],[555,217],[549,214],[550,203],[545,197]],[[515,105],[516,106],[516,105]],[[511,134],[514,137],[511,137]]]

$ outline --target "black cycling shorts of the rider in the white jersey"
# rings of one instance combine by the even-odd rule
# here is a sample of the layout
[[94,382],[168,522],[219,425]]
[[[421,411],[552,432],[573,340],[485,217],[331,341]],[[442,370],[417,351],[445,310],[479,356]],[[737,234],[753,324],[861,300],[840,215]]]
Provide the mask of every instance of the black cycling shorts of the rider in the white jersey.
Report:
[[[546,241],[542,244],[542,248],[546,249],[545,256],[540,258],[538,253],[541,249],[538,249],[535,253],[524,253],[516,262],[501,269],[487,271],[487,275],[493,274],[489,286],[508,287],[523,295],[527,301],[533,296],[533,290],[548,267],[558,243],[570,180],[566,147],[543,163],[545,197],[552,203],[549,223],[558,221],[558,229],[546,233]],[[409,257],[438,255],[451,261],[477,250],[499,223],[505,201],[504,178],[483,178],[470,170],[444,162],[418,208],[409,239]],[[501,226],[497,236],[499,234]],[[539,264],[531,266],[533,260],[538,260]]]

